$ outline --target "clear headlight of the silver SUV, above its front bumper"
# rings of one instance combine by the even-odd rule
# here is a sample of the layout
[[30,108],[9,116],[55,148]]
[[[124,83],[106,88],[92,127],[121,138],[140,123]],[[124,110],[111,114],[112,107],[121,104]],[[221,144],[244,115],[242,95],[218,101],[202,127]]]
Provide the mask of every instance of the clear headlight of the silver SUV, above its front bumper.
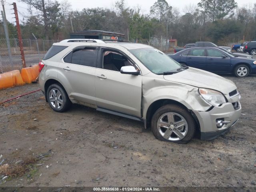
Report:
[[199,88],[198,92],[212,106],[220,106],[227,102],[225,96],[216,90]]

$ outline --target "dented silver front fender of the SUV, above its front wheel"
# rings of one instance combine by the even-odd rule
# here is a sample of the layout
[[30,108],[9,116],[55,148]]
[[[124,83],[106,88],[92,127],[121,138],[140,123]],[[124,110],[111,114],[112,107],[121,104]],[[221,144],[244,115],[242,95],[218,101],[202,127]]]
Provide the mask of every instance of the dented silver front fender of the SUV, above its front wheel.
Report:
[[143,76],[142,93],[143,119],[146,119],[150,105],[158,100],[172,100],[188,110],[206,111],[211,107],[202,100],[197,87],[166,81],[163,76],[156,77],[152,73]]

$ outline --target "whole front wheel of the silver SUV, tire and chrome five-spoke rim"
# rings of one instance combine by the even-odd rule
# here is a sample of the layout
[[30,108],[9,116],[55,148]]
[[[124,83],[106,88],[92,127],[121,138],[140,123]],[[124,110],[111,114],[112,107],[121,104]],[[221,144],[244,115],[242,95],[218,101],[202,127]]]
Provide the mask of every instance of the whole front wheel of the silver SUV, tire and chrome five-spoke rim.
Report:
[[194,137],[196,124],[188,110],[168,104],[155,112],[151,128],[159,140],[186,144]]

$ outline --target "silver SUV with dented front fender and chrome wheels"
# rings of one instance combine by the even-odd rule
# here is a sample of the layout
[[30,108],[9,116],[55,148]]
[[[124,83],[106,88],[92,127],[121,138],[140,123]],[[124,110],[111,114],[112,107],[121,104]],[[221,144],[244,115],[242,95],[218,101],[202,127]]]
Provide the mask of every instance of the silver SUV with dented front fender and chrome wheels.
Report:
[[210,140],[240,117],[236,85],[182,66],[148,45],[73,39],[53,44],[39,63],[39,83],[56,112],[82,104],[144,122],[156,138]]

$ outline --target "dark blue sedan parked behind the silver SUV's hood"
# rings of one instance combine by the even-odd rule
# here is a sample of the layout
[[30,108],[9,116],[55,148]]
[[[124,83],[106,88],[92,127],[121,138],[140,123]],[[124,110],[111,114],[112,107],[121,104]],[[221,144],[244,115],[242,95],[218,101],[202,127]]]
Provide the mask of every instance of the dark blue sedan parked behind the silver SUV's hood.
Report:
[[218,48],[188,48],[168,55],[180,64],[214,73],[232,73],[237,77],[256,74],[256,60],[228,54]]

